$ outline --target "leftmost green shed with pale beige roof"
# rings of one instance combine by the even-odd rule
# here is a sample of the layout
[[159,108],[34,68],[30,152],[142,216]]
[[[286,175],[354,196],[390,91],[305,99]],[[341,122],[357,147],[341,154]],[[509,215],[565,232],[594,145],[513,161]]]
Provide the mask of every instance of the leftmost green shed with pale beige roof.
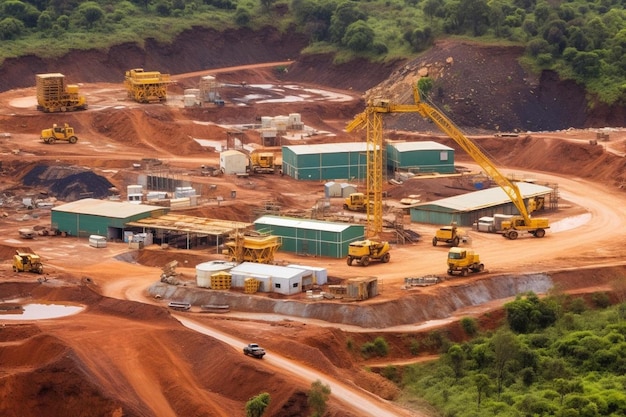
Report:
[[53,207],[51,226],[71,236],[101,235],[122,240],[125,225],[167,213],[168,208],[86,198]]

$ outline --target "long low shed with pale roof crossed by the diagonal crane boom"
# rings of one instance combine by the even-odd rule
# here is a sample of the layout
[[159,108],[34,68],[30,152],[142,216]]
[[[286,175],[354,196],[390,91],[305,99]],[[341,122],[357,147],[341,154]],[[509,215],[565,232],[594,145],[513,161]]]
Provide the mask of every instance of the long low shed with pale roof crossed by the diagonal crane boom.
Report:
[[[553,189],[550,187],[528,182],[516,184],[524,196],[526,206],[529,198],[552,198]],[[455,221],[459,226],[465,227],[471,227],[481,217],[493,217],[496,213],[519,214],[509,196],[500,187],[431,201],[410,210],[412,222],[447,225]]]

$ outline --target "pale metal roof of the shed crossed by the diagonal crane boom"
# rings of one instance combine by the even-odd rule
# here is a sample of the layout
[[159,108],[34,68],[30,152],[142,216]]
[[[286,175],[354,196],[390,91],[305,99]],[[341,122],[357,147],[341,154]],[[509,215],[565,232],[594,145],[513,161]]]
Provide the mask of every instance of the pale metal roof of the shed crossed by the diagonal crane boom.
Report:
[[[552,192],[552,188],[543,185],[531,184],[528,182],[516,182],[520,193],[524,198],[545,195]],[[486,190],[474,191],[471,193],[454,197],[442,198],[441,200],[430,201],[420,204],[420,206],[435,205],[446,207],[456,211],[472,211],[485,207],[497,206],[511,202],[509,196],[500,187],[488,188]]]

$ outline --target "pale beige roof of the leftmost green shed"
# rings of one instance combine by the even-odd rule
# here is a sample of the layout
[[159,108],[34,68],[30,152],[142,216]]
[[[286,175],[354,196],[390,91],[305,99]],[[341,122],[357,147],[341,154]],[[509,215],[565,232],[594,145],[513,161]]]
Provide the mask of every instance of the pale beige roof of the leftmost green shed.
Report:
[[85,198],[53,207],[52,211],[64,213],[88,214],[93,216],[111,217],[114,219],[125,219],[138,214],[161,211],[163,207],[149,206],[146,204],[133,204],[125,201],[98,200],[96,198]]

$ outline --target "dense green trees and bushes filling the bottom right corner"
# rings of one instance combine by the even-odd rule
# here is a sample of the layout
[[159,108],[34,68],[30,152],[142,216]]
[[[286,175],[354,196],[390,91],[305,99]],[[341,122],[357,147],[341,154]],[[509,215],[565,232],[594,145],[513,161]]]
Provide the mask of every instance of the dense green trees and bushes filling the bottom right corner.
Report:
[[[450,417],[626,415],[626,304],[609,307],[605,293],[589,304],[518,296],[502,328],[408,367],[405,392]],[[477,331],[473,319],[462,325]]]

